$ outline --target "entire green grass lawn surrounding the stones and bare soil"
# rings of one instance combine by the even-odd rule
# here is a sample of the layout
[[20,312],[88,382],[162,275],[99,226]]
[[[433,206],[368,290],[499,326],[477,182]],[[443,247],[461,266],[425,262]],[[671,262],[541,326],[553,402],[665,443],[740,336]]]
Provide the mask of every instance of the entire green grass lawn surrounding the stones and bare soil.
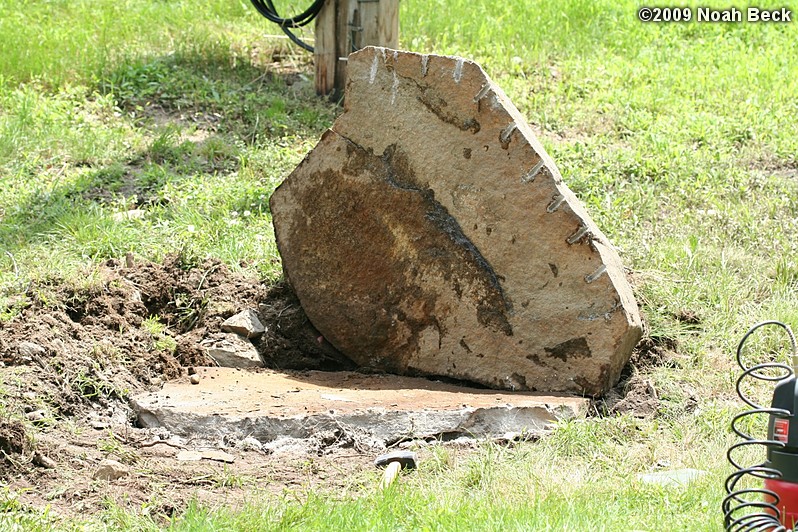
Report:
[[[634,375],[656,414],[591,416],[467,457],[442,448],[388,493],[190,505],[168,526],[721,529],[736,343],[763,319],[798,327],[798,22],[646,24],[637,7],[405,1],[400,41],[480,62],[618,246],[644,342],[667,352]],[[275,33],[243,0],[0,0],[0,319],[31,281],[91,283],[91,265],[127,252],[279,278],[268,198],[339,109]],[[142,217],[115,218],[133,208]],[[708,474],[681,489],[636,476],[678,468]],[[2,501],[0,523],[20,530],[164,525]]]

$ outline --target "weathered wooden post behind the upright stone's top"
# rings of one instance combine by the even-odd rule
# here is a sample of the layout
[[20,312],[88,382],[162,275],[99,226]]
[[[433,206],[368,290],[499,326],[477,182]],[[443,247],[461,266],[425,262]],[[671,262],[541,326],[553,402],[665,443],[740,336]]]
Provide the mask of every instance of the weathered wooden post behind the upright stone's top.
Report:
[[326,0],[316,17],[316,93],[340,99],[345,58],[370,45],[399,47],[399,0]]

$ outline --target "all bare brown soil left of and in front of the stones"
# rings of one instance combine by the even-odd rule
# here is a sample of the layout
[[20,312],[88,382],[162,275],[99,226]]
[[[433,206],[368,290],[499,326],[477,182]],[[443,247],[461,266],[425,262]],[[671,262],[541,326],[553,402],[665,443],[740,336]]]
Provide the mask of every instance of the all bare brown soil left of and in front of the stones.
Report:
[[[353,369],[285,284],[262,283],[219,261],[186,264],[179,255],[163,264],[128,256],[86,273],[86,286],[39,281],[0,309],[12,316],[0,320],[0,484],[18,494],[15,504],[85,516],[113,501],[165,520],[192,500],[236,507],[263,492],[316,488],[340,496],[376,485],[379,450],[353,434],[319,434],[279,454],[258,442],[220,441],[214,450],[234,457],[225,463],[178,459],[196,444],[135,426],[128,397],[214,366],[200,340],[245,309],[257,310],[267,328],[254,342],[267,367]],[[624,386],[653,390],[628,378],[615,402],[629,391]],[[646,415],[656,409],[643,402]],[[104,459],[128,474],[94,480]]]

